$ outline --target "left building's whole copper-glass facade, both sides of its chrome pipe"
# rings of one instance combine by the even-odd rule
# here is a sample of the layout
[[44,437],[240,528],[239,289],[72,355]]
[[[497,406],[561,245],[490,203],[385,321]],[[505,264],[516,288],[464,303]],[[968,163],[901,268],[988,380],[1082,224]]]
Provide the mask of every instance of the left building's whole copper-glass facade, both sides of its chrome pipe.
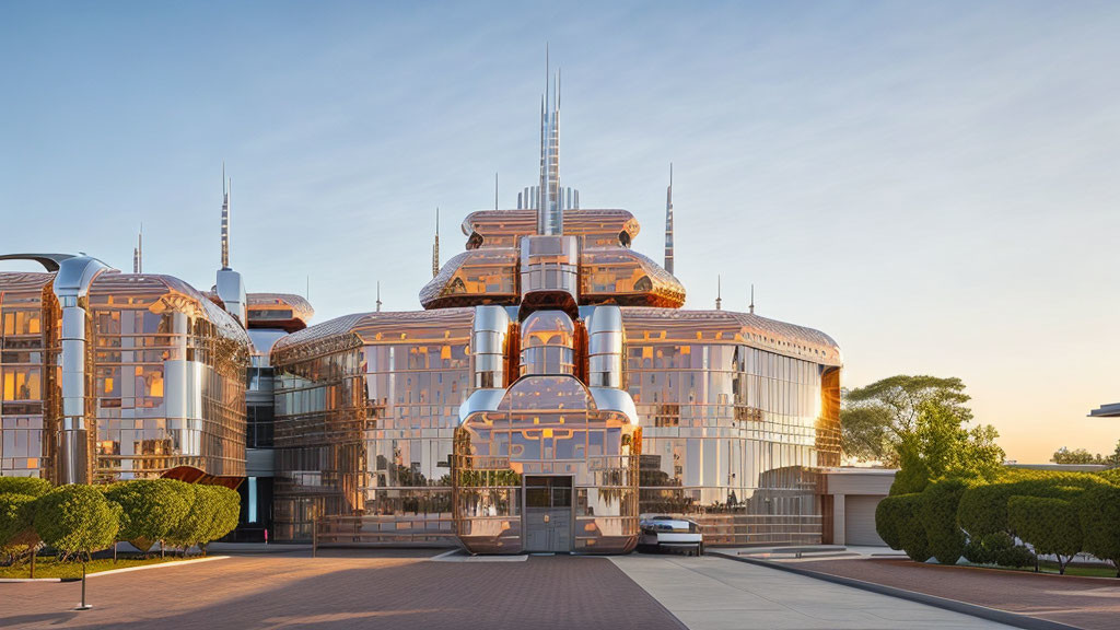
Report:
[[85,481],[180,466],[243,475],[249,337],[236,321],[176,278],[102,272],[65,313],[80,317],[84,352],[64,353],[56,281],[0,274],[0,472],[66,481],[53,465],[67,428],[60,374],[78,370],[84,427],[74,456],[92,473]]

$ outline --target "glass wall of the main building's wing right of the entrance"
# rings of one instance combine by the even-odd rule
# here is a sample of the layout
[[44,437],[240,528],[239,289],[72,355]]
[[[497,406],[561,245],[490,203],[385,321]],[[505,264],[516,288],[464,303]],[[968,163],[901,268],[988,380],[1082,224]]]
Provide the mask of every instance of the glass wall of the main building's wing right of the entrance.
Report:
[[713,544],[819,541],[816,471],[839,461],[838,409],[825,405],[839,399],[838,368],[735,317],[753,316],[678,327],[624,314],[627,389],[644,430],[642,512],[701,515]]

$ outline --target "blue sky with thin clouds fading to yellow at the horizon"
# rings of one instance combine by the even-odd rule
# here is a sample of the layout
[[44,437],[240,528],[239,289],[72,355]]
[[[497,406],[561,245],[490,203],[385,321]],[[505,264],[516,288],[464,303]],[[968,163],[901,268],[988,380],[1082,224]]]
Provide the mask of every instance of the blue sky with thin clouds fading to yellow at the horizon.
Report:
[[[821,328],[846,383],[959,376],[1010,457],[1111,451],[1120,400],[1114,3],[0,3],[0,251],[200,288],[221,165],[250,290],[325,321],[419,307],[433,210],[533,183],[544,45],[561,173],[689,306]],[[13,267],[6,266],[6,269]]]

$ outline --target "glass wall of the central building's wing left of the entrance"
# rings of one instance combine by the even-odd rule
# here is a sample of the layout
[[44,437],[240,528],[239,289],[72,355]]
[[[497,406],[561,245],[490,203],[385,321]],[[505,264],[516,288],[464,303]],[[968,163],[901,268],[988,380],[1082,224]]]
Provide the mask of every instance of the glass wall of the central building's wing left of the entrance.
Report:
[[[277,343],[281,539],[447,543],[473,309],[370,313]],[[323,539],[323,538],[320,538]]]

